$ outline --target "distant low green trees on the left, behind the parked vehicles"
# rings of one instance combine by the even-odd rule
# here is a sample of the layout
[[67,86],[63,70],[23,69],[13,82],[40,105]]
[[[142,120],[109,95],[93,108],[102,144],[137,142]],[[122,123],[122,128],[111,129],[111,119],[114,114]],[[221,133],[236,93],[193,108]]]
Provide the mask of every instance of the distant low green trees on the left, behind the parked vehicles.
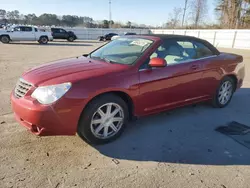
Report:
[[18,10],[6,11],[0,9],[0,24],[26,24],[38,26],[67,26],[67,27],[88,27],[88,28],[146,28],[148,26],[135,24],[128,21],[126,24],[114,22],[113,20],[96,21],[88,16],[63,15],[44,13],[40,16],[36,14],[21,14]]

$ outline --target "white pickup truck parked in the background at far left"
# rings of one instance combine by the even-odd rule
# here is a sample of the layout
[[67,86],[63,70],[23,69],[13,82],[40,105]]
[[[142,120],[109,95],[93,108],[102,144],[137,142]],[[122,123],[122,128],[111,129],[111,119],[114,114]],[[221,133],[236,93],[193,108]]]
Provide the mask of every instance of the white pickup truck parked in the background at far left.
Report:
[[47,44],[52,41],[51,32],[40,31],[32,26],[12,26],[7,30],[0,30],[0,41],[9,43],[10,41],[38,41],[40,44]]

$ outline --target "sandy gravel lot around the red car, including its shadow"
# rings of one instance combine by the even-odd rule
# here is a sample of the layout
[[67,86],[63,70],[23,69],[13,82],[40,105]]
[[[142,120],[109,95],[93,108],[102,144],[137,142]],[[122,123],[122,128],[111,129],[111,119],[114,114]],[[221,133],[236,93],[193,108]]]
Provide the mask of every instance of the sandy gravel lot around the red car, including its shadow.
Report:
[[[244,86],[227,108],[197,105],[141,118],[105,146],[89,146],[78,136],[36,137],[14,121],[9,95],[24,70],[101,44],[0,44],[1,188],[250,187],[249,149],[214,131],[233,120],[250,125],[249,64]],[[250,61],[250,51],[223,51]]]

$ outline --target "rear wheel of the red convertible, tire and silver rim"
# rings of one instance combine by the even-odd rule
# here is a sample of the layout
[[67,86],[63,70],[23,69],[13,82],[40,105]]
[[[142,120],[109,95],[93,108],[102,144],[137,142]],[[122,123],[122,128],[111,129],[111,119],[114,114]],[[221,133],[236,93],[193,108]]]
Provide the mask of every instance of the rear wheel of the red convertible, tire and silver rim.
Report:
[[[227,89],[226,89],[227,88]],[[236,83],[231,77],[225,77],[221,80],[219,87],[216,90],[216,94],[213,98],[212,105],[215,108],[226,107],[234,94]]]

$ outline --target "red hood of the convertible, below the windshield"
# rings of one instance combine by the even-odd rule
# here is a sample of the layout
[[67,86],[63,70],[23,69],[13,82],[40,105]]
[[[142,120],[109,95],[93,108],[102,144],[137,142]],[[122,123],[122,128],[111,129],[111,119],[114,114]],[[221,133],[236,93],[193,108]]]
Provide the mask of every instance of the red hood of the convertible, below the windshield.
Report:
[[[73,75],[76,73],[88,73],[97,75],[98,71],[104,73],[127,68],[127,65],[110,64],[99,60],[93,60],[86,57],[70,58],[47,63],[45,65],[37,66],[25,72],[23,79],[34,84],[39,85],[54,78]],[[90,73],[90,74],[89,74]],[[74,75],[75,76],[75,75]],[[77,79],[72,76],[72,79]],[[79,78],[80,79],[80,78]]]

